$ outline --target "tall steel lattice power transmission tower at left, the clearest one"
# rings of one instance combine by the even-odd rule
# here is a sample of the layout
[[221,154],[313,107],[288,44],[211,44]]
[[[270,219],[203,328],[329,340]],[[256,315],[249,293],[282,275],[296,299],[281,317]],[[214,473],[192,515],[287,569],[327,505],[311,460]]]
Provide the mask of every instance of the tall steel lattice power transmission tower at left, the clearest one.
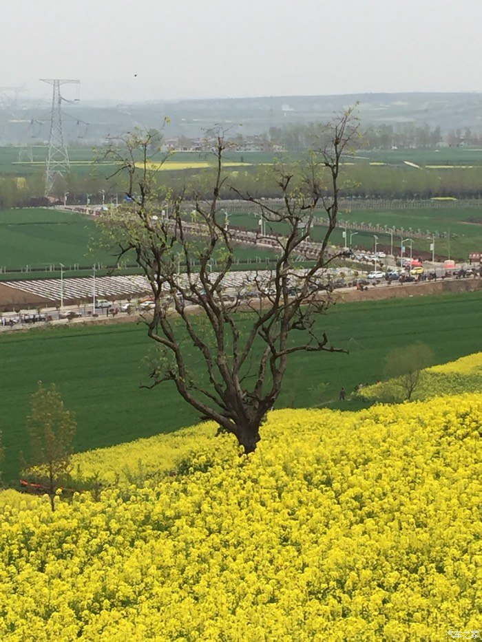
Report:
[[[75,80],[62,80],[60,78],[47,79],[41,78],[43,83],[48,83],[53,86],[52,91],[52,109],[50,110],[50,136],[48,142],[48,157],[47,157],[47,171],[45,171],[45,196],[48,196],[54,186],[56,176],[61,176],[70,169],[69,155],[67,153],[67,146],[63,138],[62,127],[62,101],[65,103],[78,102],[78,89],[81,81]],[[61,85],[67,83],[76,85],[76,98],[74,100],[67,100],[61,94]]]

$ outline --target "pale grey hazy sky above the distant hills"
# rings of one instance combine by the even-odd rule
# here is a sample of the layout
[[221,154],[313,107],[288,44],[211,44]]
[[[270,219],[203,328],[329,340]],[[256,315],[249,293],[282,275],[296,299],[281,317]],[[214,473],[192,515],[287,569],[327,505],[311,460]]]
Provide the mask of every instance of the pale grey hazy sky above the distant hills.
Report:
[[[482,92],[482,0],[3,0],[0,86],[151,100]],[[67,95],[67,89],[65,89]]]

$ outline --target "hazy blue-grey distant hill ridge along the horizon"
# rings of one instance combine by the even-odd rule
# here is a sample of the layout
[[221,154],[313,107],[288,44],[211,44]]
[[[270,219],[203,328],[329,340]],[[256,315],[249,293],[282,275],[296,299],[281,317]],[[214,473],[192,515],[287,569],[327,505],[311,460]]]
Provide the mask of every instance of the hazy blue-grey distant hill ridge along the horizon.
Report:
[[[482,94],[346,94],[344,96],[264,96],[126,102],[112,105],[78,103],[65,107],[65,136],[88,145],[133,127],[160,127],[165,116],[167,136],[197,137],[216,123],[231,127],[231,134],[259,134],[270,127],[326,121],[333,112],[359,102],[364,126],[413,122],[452,129],[482,130]],[[0,107],[0,145],[42,142],[49,135],[50,105],[25,101]],[[85,125],[88,123],[88,125]],[[242,124],[242,126],[241,126]]]

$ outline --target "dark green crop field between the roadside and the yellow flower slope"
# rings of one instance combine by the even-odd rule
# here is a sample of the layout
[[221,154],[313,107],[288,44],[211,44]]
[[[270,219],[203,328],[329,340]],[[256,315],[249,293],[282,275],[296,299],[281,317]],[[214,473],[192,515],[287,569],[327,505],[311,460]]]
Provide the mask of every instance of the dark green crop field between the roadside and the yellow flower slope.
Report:
[[[334,345],[350,354],[293,355],[277,407],[311,407],[337,398],[339,388],[373,383],[384,376],[392,347],[423,342],[437,363],[481,349],[480,292],[439,297],[344,303],[331,308],[319,325]],[[67,408],[76,413],[77,451],[113,445],[189,425],[196,413],[168,384],[140,389],[151,350],[145,328],[135,323],[59,327],[0,335],[2,367],[0,430],[6,447],[4,480],[19,474],[26,451],[25,417],[36,382],[55,383]],[[198,373],[198,359],[193,370]],[[331,403],[331,407],[339,403]],[[346,408],[355,408],[347,403]]]

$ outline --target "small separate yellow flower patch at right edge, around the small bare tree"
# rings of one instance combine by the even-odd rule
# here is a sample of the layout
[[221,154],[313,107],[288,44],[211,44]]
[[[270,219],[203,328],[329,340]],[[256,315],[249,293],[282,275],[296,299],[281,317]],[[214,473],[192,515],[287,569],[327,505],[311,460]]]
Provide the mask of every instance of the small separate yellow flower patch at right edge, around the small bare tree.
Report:
[[[479,390],[482,390],[482,352],[422,370],[412,398],[423,400]],[[400,386],[399,379],[389,379],[362,388],[358,396],[370,401],[401,401],[404,388]]]

